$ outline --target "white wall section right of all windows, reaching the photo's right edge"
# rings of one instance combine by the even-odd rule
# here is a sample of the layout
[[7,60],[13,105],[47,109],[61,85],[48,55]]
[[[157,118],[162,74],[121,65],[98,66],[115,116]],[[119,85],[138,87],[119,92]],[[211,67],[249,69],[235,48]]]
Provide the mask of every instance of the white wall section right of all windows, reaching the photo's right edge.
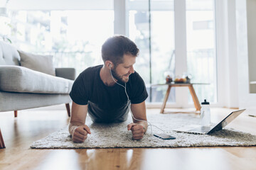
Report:
[[256,1],[215,1],[218,99],[225,107],[256,113],[256,94],[250,93],[250,81],[256,81]]

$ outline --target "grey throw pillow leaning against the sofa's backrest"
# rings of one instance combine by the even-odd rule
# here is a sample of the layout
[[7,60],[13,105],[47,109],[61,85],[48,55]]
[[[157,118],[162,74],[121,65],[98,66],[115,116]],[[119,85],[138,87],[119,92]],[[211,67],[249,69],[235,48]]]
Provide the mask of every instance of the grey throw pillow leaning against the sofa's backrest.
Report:
[[18,53],[21,56],[22,67],[55,76],[52,55],[33,55],[20,50],[18,50]]

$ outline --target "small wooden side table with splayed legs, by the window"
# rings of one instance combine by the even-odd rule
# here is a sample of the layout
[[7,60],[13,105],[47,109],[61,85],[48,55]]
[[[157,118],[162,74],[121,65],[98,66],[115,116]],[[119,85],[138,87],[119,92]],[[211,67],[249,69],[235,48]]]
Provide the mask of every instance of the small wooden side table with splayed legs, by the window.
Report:
[[201,109],[201,105],[198,101],[198,97],[196,96],[196,92],[195,90],[193,89],[193,84],[185,84],[185,83],[179,83],[179,84],[175,84],[175,83],[170,83],[170,84],[154,84],[152,86],[164,86],[164,85],[168,85],[168,88],[167,88],[167,91],[166,91],[166,95],[164,96],[164,101],[163,101],[163,104],[161,106],[161,111],[160,113],[164,113],[164,108],[166,107],[166,102],[168,100],[168,97],[169,97],[169,94],[170,94],[170,91],[171,91],[171,87],[176,87],[176,86],[186,86],[188,87],[190,93],[191,93],[191,96],[193,98],[193,103],[195,105],[195,108],[196,108],[196,111],[200,111]]

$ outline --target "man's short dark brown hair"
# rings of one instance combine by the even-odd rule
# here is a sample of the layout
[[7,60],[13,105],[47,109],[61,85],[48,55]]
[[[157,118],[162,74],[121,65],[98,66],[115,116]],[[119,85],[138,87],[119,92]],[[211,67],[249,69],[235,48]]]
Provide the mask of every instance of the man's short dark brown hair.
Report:
[[114,67],[123,63],[124,55],[139,55],[139,48],[129,38],[123,35],[114,35],[108,38],[102,45],[102,60],[110,60]]

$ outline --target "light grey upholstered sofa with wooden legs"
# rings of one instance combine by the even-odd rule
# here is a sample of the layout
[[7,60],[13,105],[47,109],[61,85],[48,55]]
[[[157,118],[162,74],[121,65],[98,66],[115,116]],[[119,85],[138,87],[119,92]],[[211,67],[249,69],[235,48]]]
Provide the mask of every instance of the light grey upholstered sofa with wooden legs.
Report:
[[[69,93],[75,69],[55,69],[46,57],[19,51],[13,45],[0,41],[0,112],[14,111],[17,116],[19,110],[65,103],[70,116]],[[52,74],[48,74],[50,69],[53,69]],[[3,147],[0,130],[0,148]]]

